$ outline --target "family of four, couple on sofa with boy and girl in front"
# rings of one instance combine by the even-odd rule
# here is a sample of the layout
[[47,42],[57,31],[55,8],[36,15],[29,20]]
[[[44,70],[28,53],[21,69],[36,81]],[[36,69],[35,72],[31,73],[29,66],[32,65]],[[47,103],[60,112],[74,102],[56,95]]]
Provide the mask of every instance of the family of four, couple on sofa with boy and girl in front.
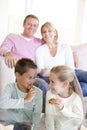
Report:
[[42,39],[34,37],[38,26],[38,17],[27,15],[23,33],[9,34],[0,46],[0,55],[8,67],[15,67],[16,76],[0,97],[0,109],[3,114],[7,110],[6,124],[14,123],[14,130],[39,130],[41,112],[46,113],[47,130],[79,130],[87,72],[75,69],[71,47],[58,42],[51,22],[41,26]]

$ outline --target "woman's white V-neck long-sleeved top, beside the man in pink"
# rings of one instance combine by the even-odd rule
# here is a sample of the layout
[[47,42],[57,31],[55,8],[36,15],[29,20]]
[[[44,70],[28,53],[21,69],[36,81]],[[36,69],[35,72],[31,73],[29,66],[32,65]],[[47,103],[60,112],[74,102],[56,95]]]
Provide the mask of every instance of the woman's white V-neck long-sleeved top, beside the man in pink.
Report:
[[44,68],[50,70],[53,66],[57,65],[67,65],[74,69],[71,47],[67,44],[58,43],[56,55],[53,57],[50,54],[47,44],[44,44],[36,50],[36,64],[39,72]]

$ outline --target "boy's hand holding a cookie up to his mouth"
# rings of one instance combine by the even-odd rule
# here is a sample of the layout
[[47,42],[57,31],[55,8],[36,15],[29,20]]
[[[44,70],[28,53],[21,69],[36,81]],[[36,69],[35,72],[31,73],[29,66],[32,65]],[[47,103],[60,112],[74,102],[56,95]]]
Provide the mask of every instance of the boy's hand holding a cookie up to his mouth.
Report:
[[24,99],[24,103],[28,103],[28,102],[32,101],[34,99],[35,95],[36,95],[35,88],[33,86],[29,87],[29,92],[27,93],[27,95]]

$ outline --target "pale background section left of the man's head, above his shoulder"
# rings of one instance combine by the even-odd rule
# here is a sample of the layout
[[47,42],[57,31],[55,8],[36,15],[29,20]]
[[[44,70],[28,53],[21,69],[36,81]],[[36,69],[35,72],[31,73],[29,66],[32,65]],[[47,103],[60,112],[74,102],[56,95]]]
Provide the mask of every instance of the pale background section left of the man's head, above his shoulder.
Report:
[[0,44],[8,33],[21,33],[26,0],[0,0]]

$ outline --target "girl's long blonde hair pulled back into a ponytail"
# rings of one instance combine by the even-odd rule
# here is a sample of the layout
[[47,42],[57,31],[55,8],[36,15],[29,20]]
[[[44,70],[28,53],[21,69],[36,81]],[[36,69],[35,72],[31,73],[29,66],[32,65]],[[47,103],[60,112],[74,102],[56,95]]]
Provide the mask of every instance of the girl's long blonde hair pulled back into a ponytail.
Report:
[[60,65],[53,67],[50,72],[54,73],[60,81],[69,81],[71,89],[81,97],[83,110],[85,113],[83,93],[79,81],[75,75],[75,71],[68,66]]

